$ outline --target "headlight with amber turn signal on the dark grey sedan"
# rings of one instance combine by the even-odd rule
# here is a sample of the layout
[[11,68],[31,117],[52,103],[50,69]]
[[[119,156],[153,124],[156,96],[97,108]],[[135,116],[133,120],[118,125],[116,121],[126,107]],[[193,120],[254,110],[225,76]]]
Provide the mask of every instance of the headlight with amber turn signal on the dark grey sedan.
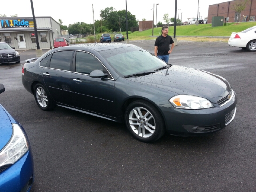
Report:
[[192,95],[177,95],[170,98],[169,102],[174,107],[180,109],[205,109],[213,107],[209,100]]

